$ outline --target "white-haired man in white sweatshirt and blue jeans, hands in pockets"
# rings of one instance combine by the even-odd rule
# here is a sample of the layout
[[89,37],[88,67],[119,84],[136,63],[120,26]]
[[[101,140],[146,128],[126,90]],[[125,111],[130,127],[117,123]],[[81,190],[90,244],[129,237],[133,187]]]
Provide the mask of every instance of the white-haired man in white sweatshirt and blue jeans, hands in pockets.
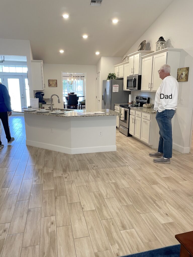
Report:
[[154,110],[156,120],[160,128],[160,140],[158,151],[150,153],[152,157],[161,157],[153,159],[156,163],[170,163],[172,158],[172,118],[176,112],[178,104],[178,81],[170,75],[170,66],[162,65],[158,71],[162,83],[157,89],[155,95]]

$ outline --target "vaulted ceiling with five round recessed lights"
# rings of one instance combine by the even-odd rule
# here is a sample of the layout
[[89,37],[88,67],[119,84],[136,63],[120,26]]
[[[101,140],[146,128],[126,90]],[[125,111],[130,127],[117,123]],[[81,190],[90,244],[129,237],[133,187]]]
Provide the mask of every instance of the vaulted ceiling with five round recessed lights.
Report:
[[123,56],[172,1],[1,0],[0,38],[30,40],[44,63],[96,65],[101,56]]

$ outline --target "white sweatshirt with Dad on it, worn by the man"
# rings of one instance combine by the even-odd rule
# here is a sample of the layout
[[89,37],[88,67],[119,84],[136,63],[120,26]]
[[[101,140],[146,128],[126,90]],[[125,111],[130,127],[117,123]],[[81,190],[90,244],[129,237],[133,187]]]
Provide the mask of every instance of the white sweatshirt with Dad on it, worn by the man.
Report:
[[162,80],[155,94],[154,110],[158,112],[162,112],[165,109],[176,110],[177,104],[178,81],[172,76],[167,76]]

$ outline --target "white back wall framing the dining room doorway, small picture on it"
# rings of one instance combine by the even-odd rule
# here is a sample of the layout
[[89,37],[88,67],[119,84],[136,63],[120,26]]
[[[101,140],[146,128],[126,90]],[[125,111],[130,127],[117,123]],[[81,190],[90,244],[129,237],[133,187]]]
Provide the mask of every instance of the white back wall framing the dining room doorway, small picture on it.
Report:
[[[53,97],[56,107],[63,108],[62,99],[62,77],[61,72],[85,73],[86,78],[86,108],[95,109],[96,97],[96,66],[95,65],[67,65],[67,64],[43,64],[45,89],[44,98],[49,98],[52,94],[57,94],[60,98],[58,104],[57,97]],[[48,87],[48,79],[57,79],[57,87]]]

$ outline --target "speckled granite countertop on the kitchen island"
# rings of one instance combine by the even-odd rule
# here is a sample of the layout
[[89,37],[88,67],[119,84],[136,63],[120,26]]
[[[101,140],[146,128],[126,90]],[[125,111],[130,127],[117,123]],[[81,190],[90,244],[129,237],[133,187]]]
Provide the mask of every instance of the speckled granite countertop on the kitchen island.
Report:
[[[52,113],[38,113],[38,112],[29,112],[29,111],[23,111],[23,109],[20,109],[18,111],[14,110],[13,112],[17,113],[27,113],[27,114],[36,114],[36,115],[45,115],[45,116],[57,116],[57,117],[63,117],[63,118],[75,118],[75,117],[99,117],[99,116],[119,116],[121,113],[114,112],[110,109],[100,109],[100,110],[72,110],[72,109],[61,109],[61,111],[66,111],[64,114],[52,114]],[[102,114],[89,114],[89,115],[79,115],[78,112],[105,112]]]

